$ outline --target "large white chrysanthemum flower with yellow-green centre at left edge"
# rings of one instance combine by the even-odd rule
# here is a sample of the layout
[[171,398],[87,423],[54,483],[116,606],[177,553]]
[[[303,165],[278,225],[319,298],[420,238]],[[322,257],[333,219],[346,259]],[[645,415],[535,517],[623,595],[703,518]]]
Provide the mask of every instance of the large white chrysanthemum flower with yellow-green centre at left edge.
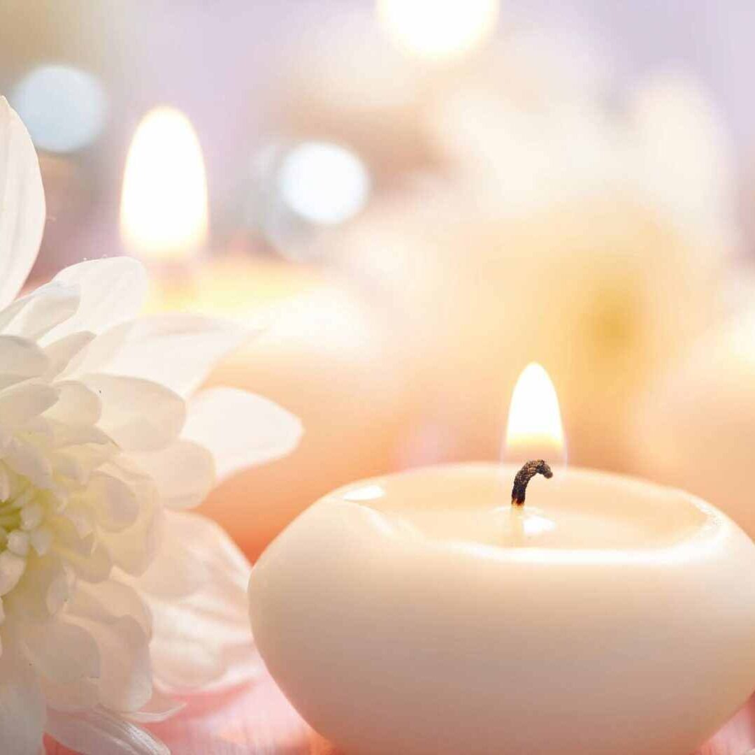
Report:
[[85,262],[14,300],[45,220],[39,164],[0,98],[0,752],[167,752],[167,696],[253,673],[249,565],[187,513],[285,454],[300,424],[231,389],[192,397],[247,333],[134,319],[146,279]]

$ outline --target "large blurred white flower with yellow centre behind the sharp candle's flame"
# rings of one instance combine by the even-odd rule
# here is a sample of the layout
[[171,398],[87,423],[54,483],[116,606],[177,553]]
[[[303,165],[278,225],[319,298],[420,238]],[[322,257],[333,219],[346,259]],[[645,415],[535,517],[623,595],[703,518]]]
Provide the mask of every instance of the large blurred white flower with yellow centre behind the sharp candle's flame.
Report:
[[[329,243],[390,291],[413,339],[415,426],[434,436],[421,445],[498,456],[505,396],[537,361],[572,461],[626,469],[632,402],[726,313],[731,148],[694,79],[662,75],[616,101],[559,52],[512,35],[470,64],[424,107],[442,174],[382,196]],[[403,461],[427,456],[410,442]]]

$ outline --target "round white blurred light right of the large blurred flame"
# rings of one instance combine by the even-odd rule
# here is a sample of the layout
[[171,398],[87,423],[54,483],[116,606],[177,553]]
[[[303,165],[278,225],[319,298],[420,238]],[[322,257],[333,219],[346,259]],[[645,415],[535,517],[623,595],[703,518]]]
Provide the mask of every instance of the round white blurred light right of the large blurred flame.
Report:
[[280,196],[305,220],[343,223],[367,202],[370,177],[362,160],[343,146],[304,142],[283,159],[278,175]]

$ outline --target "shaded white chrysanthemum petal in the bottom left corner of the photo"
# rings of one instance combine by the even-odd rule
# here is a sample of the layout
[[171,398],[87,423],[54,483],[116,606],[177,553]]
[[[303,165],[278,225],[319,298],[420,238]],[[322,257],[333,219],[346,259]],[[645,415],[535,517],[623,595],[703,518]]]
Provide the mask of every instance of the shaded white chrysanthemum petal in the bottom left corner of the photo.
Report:
[[44,729],[45,700],[36,674],[17,649],[6,648],[0,656],[0,753],[38,752]]

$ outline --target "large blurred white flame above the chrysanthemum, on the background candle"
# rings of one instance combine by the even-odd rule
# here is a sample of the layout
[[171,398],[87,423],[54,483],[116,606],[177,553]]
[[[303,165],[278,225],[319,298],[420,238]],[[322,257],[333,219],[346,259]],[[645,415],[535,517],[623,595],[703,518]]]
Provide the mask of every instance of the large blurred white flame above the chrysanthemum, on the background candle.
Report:
[[207,241],[207,180],[202,148],[189,119],[159,106],[140,122],[128,150],[121,236],[150,260],[185,260]]

